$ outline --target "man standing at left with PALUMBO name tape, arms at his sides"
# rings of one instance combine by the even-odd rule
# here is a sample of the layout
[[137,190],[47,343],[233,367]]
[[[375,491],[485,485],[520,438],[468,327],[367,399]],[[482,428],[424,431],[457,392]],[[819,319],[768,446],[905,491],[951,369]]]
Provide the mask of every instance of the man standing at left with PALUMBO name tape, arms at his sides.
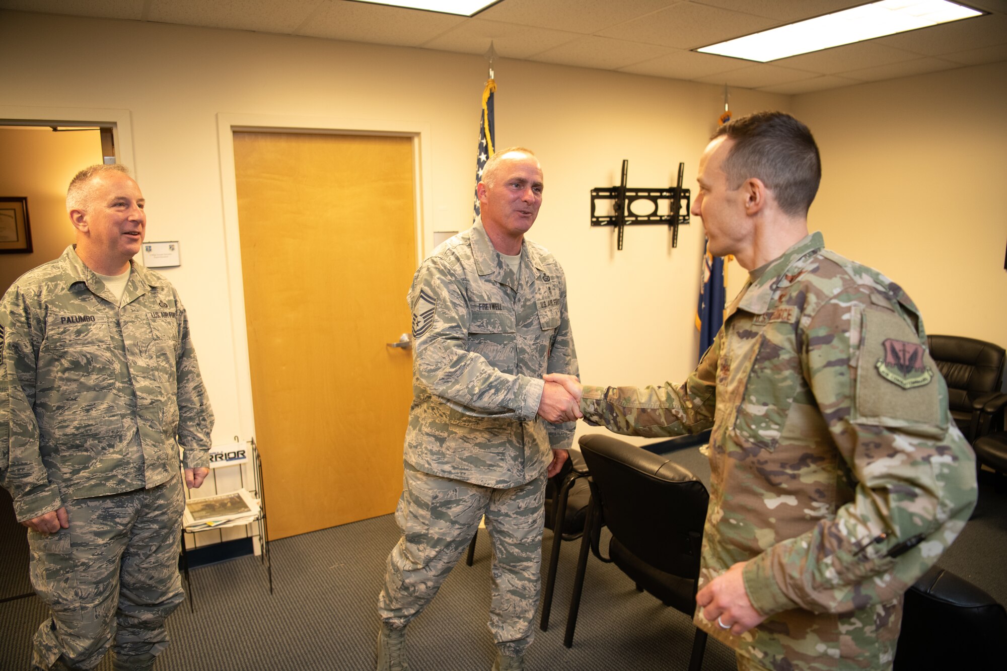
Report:
[[143,207],[125,167],[82,170],[77,244],[0,305],[0,484],[51,611],[35,669],[92,669],[110,646],[116,669],[149,669],[183,598],[178,446],[199,487],[213,416],[178,295],[131,261]]

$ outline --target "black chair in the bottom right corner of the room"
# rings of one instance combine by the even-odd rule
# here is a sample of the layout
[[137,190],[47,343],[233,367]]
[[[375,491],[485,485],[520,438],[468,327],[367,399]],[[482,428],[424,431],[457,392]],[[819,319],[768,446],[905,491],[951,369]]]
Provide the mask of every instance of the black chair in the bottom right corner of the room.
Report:
[[905,592],[893,671],[1003,668],[1005,640],[1004,607],[933,566]]

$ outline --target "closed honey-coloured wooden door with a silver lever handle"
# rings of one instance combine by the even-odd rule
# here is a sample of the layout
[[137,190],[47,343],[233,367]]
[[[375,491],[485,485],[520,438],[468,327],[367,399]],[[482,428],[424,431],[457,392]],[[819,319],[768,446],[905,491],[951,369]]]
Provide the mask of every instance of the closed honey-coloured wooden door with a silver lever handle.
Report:
[[235,133],[269,535],[395,510],[412,399],[408,137]]

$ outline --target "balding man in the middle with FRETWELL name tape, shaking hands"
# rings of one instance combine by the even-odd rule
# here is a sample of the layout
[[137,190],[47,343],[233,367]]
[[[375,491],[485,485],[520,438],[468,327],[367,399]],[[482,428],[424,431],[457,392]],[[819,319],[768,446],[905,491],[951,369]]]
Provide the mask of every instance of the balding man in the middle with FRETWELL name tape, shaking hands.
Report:
[[[413,404],[396,520],[403,536],[379,596],[378,669],[409,668],[405,628],[434,597],[485,515],[492,539],[493,669],[522,669],[539,600],[547,472],[559,472],[574,399],[548,372],[577,374],[559,263],[524,238],[542,168],[505,149],[477,185],[481,218],[413,278]],[[544,421],[545,420],[545,421]],[[473,664],[474,666],[474,664]]]

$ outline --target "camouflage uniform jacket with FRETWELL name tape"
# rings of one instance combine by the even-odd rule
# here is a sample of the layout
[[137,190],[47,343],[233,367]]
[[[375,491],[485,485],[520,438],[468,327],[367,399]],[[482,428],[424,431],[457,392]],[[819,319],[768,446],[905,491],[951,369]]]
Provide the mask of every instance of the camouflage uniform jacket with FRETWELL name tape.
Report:
[[405,458],[417,469],[475,485],[535,480],[574,423],[537,416],[546,373],[577,374],[566,279],[525,239],[521,272],[476,220],[434,250],[409,290],[413,404]]

